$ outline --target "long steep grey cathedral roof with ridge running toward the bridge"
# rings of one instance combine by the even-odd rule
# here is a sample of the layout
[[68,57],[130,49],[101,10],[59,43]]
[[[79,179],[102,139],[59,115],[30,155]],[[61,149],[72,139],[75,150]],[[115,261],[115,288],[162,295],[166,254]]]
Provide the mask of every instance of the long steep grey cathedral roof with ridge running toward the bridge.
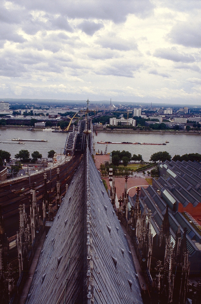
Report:
[[130,250],[89,150],[44,241],[26,303],[143,303]]

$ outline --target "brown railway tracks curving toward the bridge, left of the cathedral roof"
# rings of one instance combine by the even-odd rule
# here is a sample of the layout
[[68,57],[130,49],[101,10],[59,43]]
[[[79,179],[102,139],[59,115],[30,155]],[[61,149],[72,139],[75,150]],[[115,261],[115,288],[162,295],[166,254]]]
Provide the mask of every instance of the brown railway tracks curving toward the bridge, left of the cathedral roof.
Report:
[[[59,168],[59,177],[61,182],[62,196],[65,195],[66,183],[70,183],[72,176],[78,167],[80,162],[80,155],[72,157],[72,159],[56,168],[51,168],[51,179],[50,171],[45,171],[47,174],[47,191],[49,198],[53,203],[55,199],[55,186],[57,182],[57,168]],[[30,215],[30,190],[33,188],[33,183],[36,190],[37,203],[40,208],[41,219],[42,216],[42,199],[44,192],[44,172],[40,172],[33,176],[14,181],[13,183],[4,184],[0,186],[0,207],[2,216],[4,219],[4,228],[7,237],[12,237],[19,230],[19,205],[25,204],[27,217]],[[12,186],[10,186],[12,185]],[[21,190],[23,189],[23,190]]]

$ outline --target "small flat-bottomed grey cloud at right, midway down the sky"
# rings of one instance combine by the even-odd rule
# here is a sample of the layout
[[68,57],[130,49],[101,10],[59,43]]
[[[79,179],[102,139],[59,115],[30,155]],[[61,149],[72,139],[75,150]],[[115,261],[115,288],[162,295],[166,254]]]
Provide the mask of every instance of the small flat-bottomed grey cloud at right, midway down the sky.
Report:
[[195,58],[192,55],[179,53],[176,47],[159,48],[153,53],[153,56],[172,60],[175,62],[194,62]]

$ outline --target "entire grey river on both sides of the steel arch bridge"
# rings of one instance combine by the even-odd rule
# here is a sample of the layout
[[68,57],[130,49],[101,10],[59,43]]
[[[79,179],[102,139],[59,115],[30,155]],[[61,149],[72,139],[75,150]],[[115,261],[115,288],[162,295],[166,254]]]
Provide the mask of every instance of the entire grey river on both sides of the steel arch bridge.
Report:
[[[31,153],[38,151],[43,157],[48,156],[49,150],[55,150],[57,153],[64,151],[67,133],[54,133],[51,131],[33,130],[27,131],[26,129],[9,129],[2,128],[0,130],[0,141],[9,143],[0,143],[0,149],[9,151],[11,158],[19,152],[19,150],[28,150]],[[97,143],[97,141],[111,141],[111,142],[141,142],[141,143],[164,143],[169,141],[165,146],[163,145],[133,145],[133,144],[108,144],[107,152],[113,150],[126,150],[131,154],[142,154],[143,159],[148,161],[151,154],[158,151],[168,151],[173,157],[175,154],[185,153],[200,153],[201,151],[201,136],[185,134],[164,134],[164,133],[127,133],[127,132],[99,132],[94,135],[95,152],[98,149],[105,151],[106,144]],[[11,140],[12,138],[20,139],[44,139],[48,142],[25,142],[25,144],[18,144]]]

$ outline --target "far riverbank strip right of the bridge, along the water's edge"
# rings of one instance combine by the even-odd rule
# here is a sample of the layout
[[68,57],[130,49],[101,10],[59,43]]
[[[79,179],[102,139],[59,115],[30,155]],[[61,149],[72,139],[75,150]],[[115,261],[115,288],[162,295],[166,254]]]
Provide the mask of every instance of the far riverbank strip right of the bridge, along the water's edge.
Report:
[[141,134],[190,134],[201,135],[201,131],[186,131],[186,130],[132,130],[132,129],[109,129],[109,128],[97,128],[93,126],[93,131],[106,132],[106,133],[141,133]]

